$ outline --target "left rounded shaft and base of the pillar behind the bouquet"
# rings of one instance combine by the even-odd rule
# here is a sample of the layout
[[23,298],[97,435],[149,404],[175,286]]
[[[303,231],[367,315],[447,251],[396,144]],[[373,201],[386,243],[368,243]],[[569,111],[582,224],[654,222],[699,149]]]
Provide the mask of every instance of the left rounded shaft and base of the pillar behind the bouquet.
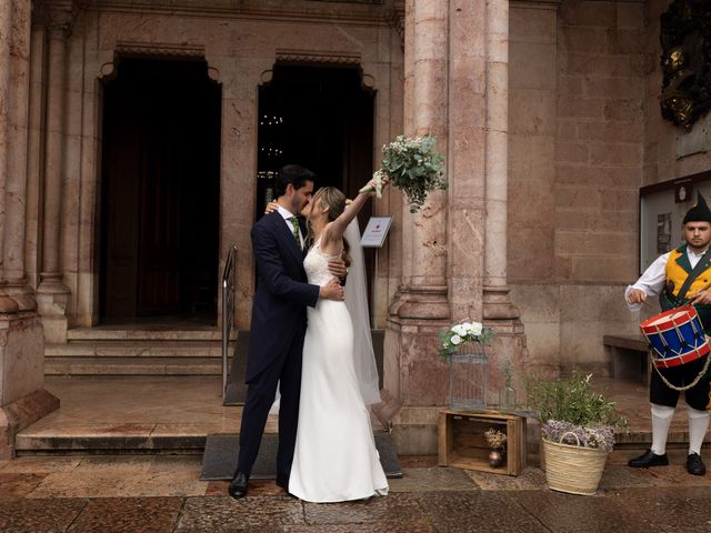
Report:
[[[448,147],[448,0],[405,3],[405,135],[431,133]],[[447,392],[438,332],[450,316],[447,289],[447,195],[430,193],[415,214],[403,205],[403,283],[390,308],[385,331],[387,399],[404,408],[394,416],[401,453],[435,447],[431,425]],[[407,265],[407,266],[405,266]]]

